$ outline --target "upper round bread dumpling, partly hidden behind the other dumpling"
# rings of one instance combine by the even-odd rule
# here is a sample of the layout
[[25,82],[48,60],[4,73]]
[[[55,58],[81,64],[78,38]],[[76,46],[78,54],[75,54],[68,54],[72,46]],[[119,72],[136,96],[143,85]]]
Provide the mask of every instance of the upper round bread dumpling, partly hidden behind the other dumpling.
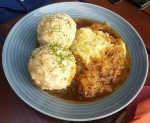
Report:
[[39,44],[59,44],[69,48],[75,38],[76,23],[67,14],[43,16],[37,27]]

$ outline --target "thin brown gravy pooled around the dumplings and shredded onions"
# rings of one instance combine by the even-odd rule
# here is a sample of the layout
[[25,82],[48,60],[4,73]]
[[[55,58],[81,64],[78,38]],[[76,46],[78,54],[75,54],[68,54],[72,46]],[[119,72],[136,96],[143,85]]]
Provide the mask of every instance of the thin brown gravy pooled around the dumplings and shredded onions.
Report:
[[[101,31],[109,33],[111,36],[114,38],[121,38],[121,36],[114,31],[112,28],[108,26],[106,23],[101,23],[93,20],[88,20],[88,19],[77,19],[75,20],[77,23],[77,29],[81,27],[89,27],[92,26],[94,23],[100,23],[102,26],[104,26]],[[130,60],[130,55],[128,51],[128,57],[127,61],[129,62],[128,66],[126,67],[125,72],[123,73],[123,80],[119,84],[114,84],[113,86],[113,92],[118,90],[125,82],[127,79],[129,72],[130,72],[130,66],[131,66],[131,60]],[[59,97],[61,99],[67,100],[67,101],[74,101],[77,103],[87,103],[87,102],[93,102],[96,100],[103,99],[107,96],[110,96],[113,92],[103,92],[103,93],[98,93],[94,97],[85,97],[79,90],[78,90],[78,81],[73,80],[72,84],[65,90],[59,90],[59,91],[46,91],[50,95]]]

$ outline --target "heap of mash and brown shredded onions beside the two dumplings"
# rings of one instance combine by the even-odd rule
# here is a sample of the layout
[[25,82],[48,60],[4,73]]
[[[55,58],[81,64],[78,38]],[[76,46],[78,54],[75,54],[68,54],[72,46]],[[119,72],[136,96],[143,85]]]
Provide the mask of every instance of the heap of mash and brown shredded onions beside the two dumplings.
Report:
[[126,67],[126,44],[90,27],[80,28],[71,46],[77,60],[79,90],[87,97],[112,92]]

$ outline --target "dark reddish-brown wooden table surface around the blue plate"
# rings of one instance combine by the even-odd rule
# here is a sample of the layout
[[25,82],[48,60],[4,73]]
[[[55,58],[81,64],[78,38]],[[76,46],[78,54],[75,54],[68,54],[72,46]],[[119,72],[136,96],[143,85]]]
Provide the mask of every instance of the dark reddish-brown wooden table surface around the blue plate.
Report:
[[[78,0],[56,0],[56,2],[78,1]],[[108,0],[80,0],[105,7],[125,18],[141,35],[148,53],[150,53],[150,6],[139,10],[139,8],[123,0],[118,4],[112,4]],[[0,25],[0,33],[7,37],[7,34],[14,24],[21,18],[17,17]],[[2,59],[3,44],[0,43],[0,58]],[[150,59],[150,56],[149,56]],[[150,85],[150,72],[148,73],[145,85]],[[115,123],[118,116],[124,110],[113,114],[104,119],[96,121],[88,121],[87,123]],[[35,109],[31,108],[23,102],[12,90],[2,68],[2,60],[0,61],[0,122],[1,123],[65,123],[59,119],[46,116]],[[121,122],[121,121],[120,121]],[[122,123],[126,122],[126,118]],[[82,123],[82,122],[79,122]]]

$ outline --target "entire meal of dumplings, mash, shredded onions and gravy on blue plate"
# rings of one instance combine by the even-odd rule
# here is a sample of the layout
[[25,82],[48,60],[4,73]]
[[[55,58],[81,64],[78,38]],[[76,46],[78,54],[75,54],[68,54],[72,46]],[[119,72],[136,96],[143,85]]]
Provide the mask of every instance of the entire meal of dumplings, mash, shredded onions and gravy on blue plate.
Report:
[[89,102],[112,94],[127,79],[131,60],[127,44],[109,23],[44,16],[40,44],[28,63],[32,81],[54,96]]

